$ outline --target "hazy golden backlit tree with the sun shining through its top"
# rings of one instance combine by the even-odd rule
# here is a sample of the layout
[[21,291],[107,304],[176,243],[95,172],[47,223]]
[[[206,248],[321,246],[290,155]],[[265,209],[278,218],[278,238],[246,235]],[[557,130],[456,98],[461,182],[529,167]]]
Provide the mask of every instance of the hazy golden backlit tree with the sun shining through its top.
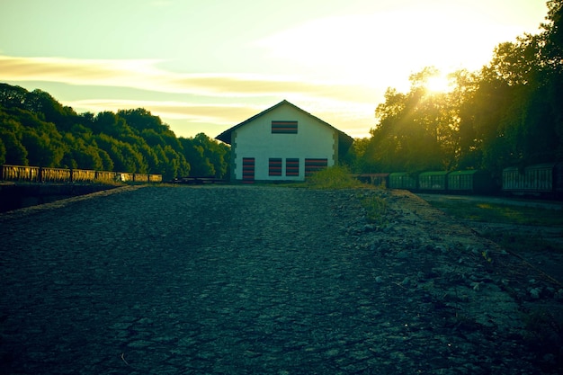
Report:
[[371,130],[364,165],[381,172],[419,172],[447,169],[455,154],[451,133],[457,125],[446,94],[432,93],[426,87],[437,74],[433,67],[410,76],[407,94],[389,88],[385,103],[378,105],[379,123]]

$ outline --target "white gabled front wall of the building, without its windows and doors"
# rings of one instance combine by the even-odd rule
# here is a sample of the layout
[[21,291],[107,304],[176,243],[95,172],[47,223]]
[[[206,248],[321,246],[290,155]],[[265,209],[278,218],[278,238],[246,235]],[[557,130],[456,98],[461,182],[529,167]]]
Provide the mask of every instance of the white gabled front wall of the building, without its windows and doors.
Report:
[[[297,134],[272,134],[272,121],[298,121]],[[304,180],[305,158],[326,158],[335,165],[335,129],[290,105],[281,105],[234,130],[232,145],[236,180],[242,179],[243,157],[255,157],[255,180]],[[337,142],[337,140],[336,140]],[[281,176],[268,175],[271,157],[282,159]],[[285,159],[299,158],[299,177],[285,175]]]

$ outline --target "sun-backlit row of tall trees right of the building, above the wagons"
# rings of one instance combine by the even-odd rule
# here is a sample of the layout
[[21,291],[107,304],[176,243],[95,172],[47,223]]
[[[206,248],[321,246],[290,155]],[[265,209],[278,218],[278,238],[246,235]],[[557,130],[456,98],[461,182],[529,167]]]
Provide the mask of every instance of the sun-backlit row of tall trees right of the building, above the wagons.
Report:
[[563,161],[563,25],[561,0],[548,1],[546,22],[496,46],[479,71],[449,75],[447,92],[428,83],[439,72],[410,76],[410,90],[389,88],[375,111],[371,138],[356,139],[354,172],[485,169]]

